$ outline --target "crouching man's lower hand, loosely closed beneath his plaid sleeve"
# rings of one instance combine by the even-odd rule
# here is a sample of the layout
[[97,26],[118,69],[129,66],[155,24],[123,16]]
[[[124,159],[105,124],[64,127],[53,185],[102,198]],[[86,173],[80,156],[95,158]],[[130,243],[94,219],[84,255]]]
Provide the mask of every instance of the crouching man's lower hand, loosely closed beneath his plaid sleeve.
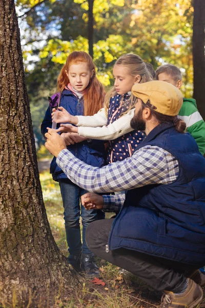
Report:
[[104,198],[94,192],[87,192],[81,196],[81,202],[86,209],[101,209],[104,205]]

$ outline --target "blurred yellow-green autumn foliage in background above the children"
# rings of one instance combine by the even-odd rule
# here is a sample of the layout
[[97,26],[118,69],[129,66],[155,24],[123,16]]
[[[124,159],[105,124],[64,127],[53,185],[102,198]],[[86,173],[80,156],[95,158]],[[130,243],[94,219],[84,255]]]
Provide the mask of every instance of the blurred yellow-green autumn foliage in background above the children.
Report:
[[[40,4],[42,2],[42,4]],[[39,3],[39,5],[38,5]],[[16,0],[34,131],[56,91],[57,75],[73,50],[88,52],[88,2]],[[191,0],[94,0],[94,62],[106,86],[113,83],[114,61],[133,52],[154,68],[164,63],[182,70],[183,94],[192,96]],[[38,122],[38,124],[37,124]]]

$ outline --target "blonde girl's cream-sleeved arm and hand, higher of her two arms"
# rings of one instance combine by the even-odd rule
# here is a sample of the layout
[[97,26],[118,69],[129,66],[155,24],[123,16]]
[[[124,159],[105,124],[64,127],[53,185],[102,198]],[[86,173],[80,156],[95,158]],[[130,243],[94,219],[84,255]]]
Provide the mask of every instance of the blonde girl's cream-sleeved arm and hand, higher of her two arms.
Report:
[[[60,110],[60,111],[59,111]],[[107,114],[105,108],[100,109],[94,115],[88,115],[87,117],[84,115],[71,115],[65,108],[58,107],[58,110],[53,109],[52,119],[55,114],[55,122],[56,123],[72,123],[77,126],[90,126],[90,127],[98,127],[103,126],[108,123]]]

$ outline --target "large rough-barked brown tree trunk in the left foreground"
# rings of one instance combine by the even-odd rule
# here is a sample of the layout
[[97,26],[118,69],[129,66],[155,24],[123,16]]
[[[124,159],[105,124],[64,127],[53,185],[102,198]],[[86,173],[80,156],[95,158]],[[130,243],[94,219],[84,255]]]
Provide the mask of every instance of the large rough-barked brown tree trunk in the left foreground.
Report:
[[[0,302],[70,287],[39,181],[14,0],[0,0]],[[73,279],[73,278],[72,278]],[[74,280],[72,280],[74,283]],[[71,284],[70,284],[71,285]],[[68,291],[68,289],[67,289]]]

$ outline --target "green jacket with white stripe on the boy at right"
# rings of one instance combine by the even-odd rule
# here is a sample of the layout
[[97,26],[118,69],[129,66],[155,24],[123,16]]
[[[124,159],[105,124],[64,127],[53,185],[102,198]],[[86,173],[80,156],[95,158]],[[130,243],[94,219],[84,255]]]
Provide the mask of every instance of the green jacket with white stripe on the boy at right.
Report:
[[196,140],[199,151],[205,153],[205,122],[203,121],[196,106],[196,100],[183,99],[183,104],[178,114],[178,118],[185,121],[187,131]]

